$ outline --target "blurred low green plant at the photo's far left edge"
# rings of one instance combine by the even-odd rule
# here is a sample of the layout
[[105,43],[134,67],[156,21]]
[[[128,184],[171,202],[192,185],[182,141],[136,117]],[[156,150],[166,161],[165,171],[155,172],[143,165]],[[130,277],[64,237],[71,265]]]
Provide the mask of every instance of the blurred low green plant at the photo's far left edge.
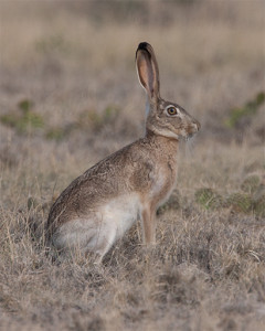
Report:
[[44,120],[41,115],[32,110],[33,103],[23,99],[18,104],[19,113],[4,114],[0,117],[3,125],[14,128],[19,134],[26,134],[32,129],[44,127]]

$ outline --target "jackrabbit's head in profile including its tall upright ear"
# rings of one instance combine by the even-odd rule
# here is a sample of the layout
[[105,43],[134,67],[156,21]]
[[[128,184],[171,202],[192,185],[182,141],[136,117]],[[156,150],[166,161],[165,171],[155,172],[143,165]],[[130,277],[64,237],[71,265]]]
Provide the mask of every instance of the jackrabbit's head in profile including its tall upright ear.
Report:
[[158,63],[150,44],[140,43],[136,51],[136,67],[148,96],[147,131],[168,138],[190,138],[200,130],[200,122],[176,103],[160,97]]

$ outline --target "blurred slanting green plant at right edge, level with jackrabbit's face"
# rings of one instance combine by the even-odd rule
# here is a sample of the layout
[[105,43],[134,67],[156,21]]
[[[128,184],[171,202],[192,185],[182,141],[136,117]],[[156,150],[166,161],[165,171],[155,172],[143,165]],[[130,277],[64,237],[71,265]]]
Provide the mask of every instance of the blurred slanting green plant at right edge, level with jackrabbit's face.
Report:
[[265,93],[261,92],[253,100],[247,102],[242,107],[232,108],[229,118],[225,120],[225,126],[229,128],[234,128],[243,118],[255,115],[258,108],[263,105],[264,100]]

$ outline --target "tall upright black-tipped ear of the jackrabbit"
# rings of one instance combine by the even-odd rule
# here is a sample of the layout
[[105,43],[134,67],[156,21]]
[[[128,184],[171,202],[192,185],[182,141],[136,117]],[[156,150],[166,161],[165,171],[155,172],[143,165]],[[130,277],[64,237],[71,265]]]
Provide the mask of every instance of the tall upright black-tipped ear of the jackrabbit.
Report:
[[136,51],[136,67],[141,86],[146,89],[149,99],[159,98],[159,71],[152,46],[140,43]]

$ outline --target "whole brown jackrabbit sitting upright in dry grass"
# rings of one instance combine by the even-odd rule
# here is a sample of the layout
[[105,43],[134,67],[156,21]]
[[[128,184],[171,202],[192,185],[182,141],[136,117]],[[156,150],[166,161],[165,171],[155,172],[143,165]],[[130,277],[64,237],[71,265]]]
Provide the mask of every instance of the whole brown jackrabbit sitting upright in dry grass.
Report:
[[138,220],[147,245],[156,242],[156,211],[177,180],[179,139],[200,124],[179,105],[160,97],[159,71],[150,44],[136,51],[136,67],[147,93],[146,135],[75,179],[53,204],[47,239],[57,249],[78,247],[99,263]]

